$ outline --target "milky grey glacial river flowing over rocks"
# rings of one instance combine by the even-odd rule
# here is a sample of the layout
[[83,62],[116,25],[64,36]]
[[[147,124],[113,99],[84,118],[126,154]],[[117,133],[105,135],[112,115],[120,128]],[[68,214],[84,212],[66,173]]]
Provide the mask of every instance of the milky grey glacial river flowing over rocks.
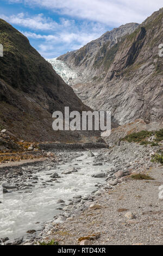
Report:
[[[32,193],[24,193],[26,191],[23,190],[23,193],[14,191],[4,194],[3,203],[0,204],[0,237],[8,236],[9,239],[14,239],[26,235],[29,229],[41,229],[42,223],[52,220],[53,216],[60,212],[57,210],[60,206],[58,199],[63,199],[68,204],[68,199],[73,196],[85,196],[96,190],[95,185],[98,182],[103,183],[105,178],[93,178],[92,174],[101,170],[105,172],[109,164],[93,166],[94,159],[95,157],[88,157],[87,152],[84,152],[83,156],[71,163],[57,166],[54,170],[43,169],[35,173],[39,180],[32,188]],[[70,166],[81,169],[76,173],[61,174]],[[43,187],[42,182],[50,179],[47,174],[54,172],[61,176],[58,179],[60,183],[53,182]]]

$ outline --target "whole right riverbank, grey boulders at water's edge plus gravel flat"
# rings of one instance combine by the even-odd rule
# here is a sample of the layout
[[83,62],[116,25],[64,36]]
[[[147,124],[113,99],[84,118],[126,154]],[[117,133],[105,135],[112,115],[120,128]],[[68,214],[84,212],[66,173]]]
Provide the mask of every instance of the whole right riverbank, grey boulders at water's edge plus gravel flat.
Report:
[[[160,244],[163,211],[158,193],[163,168],[151,162],[157,150],[121,142],[98,151],[94,164],[113,164],[104,184],[97,184],[91,195],[73,198],[60,215],[45,224],[35,242],[54,239],[60,245],[79,245],[81,241],[87,245]],[[149,180],[133,180],[131,173],[144,173]]]

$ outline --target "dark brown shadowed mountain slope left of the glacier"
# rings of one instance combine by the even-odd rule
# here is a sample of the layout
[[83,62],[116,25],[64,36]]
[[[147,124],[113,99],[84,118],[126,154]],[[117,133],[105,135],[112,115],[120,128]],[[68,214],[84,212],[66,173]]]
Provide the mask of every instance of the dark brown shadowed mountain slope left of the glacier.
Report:
[[0,129],[28,141],[71,141],[78,134],[54,132],[52,113],[90,110],[40,54],[0,19]]

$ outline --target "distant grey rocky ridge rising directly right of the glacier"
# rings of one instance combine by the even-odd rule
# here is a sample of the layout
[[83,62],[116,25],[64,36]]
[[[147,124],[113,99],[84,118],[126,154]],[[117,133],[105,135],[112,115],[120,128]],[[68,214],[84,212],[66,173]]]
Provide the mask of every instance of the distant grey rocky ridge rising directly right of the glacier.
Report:
[[[97,76],[98,78],[104,77],[106,70],[101,69],[101,63],[105,58],[106,51],[110,50],[117,42],[120,42],[124,35],[134,32],[138,26],[139,24],[137,23],[129,23],[119,28],[114,28],[78,51],[68,52],[58,57],[58,60],[65,62],[72,70],[78,71],[78,76],[73,78],[71,84],[89,82],[95,80]],[[109,61],[111,62],[112,52],[110,58]],[[108,59],[104,59],[104,65],[107,62]]]

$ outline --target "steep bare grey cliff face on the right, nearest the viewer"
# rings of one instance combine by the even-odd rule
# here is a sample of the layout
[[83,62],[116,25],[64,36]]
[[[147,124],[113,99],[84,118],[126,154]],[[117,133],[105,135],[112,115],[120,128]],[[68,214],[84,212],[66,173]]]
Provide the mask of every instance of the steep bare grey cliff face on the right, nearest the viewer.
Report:
[[98,69],[94,81],[73,86],[80,99],[93,109],[110,110],[119,124],[137,118],[160,121],[163,58],[158,53],[163,43],[162,32],[163,8],[111,48],[110,42],[104,44],[99,50],[103,57],[93,62]]

